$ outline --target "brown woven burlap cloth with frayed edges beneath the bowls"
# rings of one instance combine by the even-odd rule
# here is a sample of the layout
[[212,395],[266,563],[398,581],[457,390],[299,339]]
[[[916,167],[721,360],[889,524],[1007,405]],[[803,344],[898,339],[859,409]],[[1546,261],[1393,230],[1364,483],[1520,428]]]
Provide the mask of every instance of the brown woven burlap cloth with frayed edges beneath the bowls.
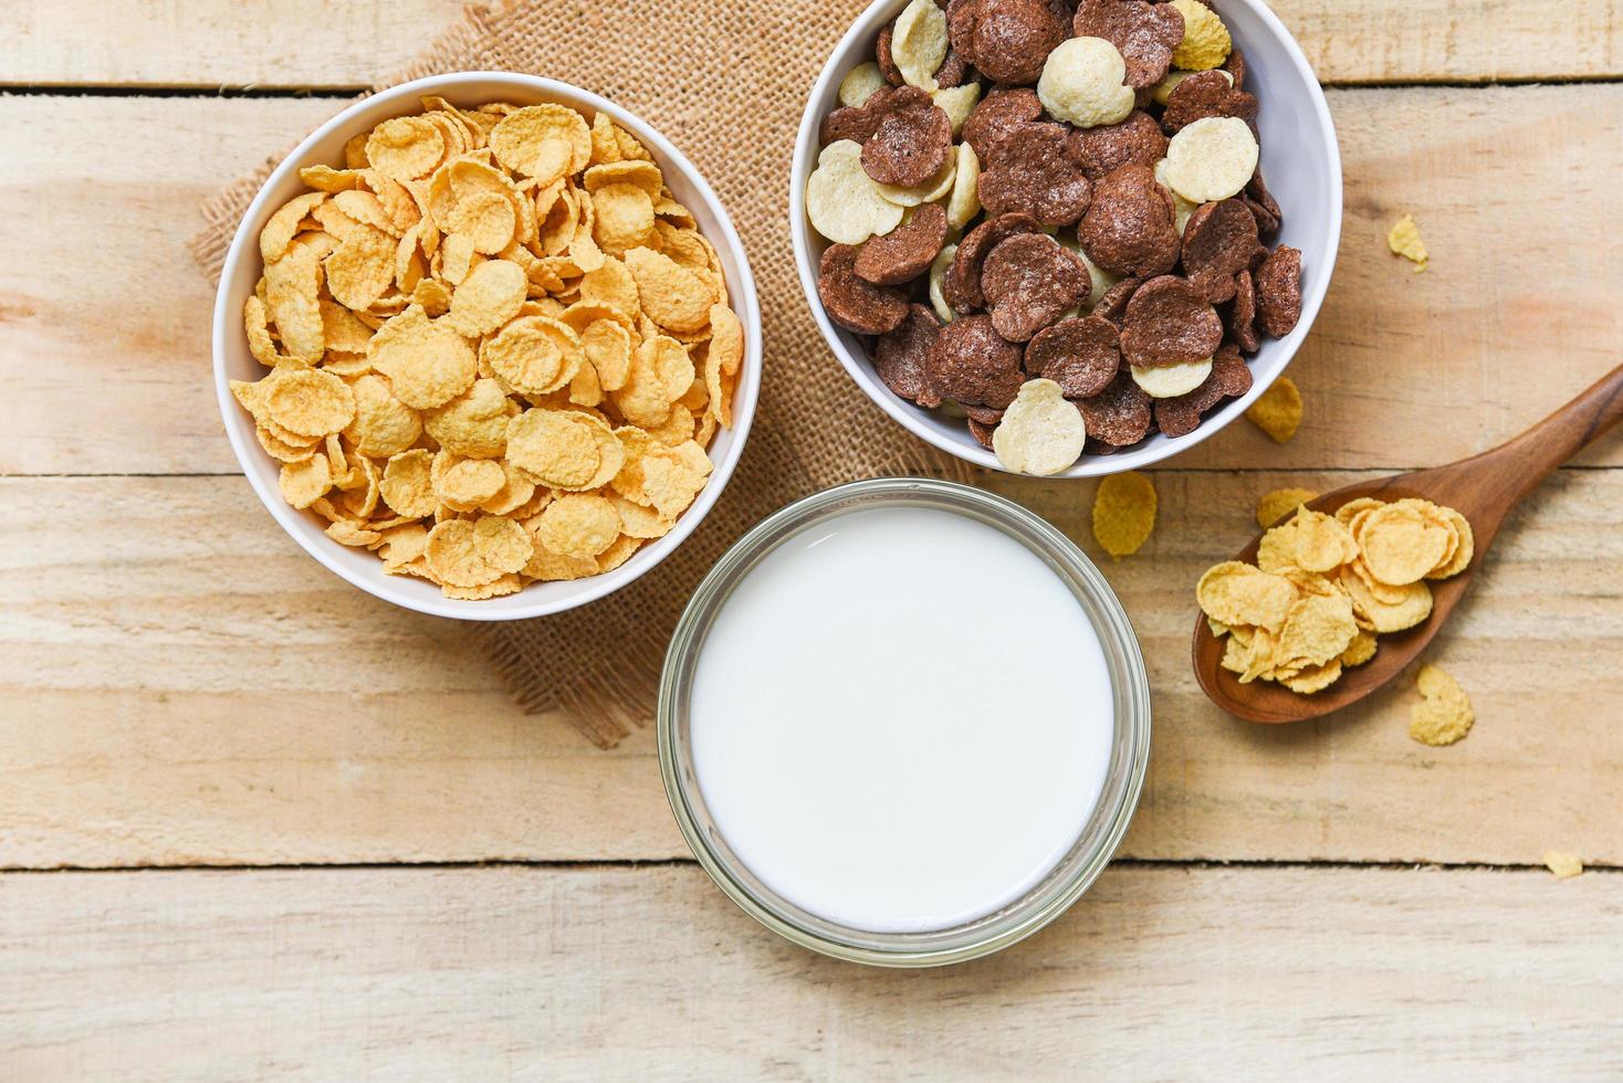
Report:
[[[566,712],[607,747],[652,717],[670,631],[698,580],[792,499],[886,473],[962,472],[885,417],[846,376],[807,310],[789,238],[789,159],[812,83],[865,0],[553,0],[471,6],[409,68],[566,79],[644,117],[693,159],[743,237],[760,287],[764,366],[743,460],[704,524],[630,587],[558,616],[477,624],[529,712]],[[334,110],[336,112],[336,110]],[[268,148],[274,151],[279,148]],[[193,243],[219,277],[230,237],[278,159],[203,206]],[[794,614],[784,614],[794,619]]]

